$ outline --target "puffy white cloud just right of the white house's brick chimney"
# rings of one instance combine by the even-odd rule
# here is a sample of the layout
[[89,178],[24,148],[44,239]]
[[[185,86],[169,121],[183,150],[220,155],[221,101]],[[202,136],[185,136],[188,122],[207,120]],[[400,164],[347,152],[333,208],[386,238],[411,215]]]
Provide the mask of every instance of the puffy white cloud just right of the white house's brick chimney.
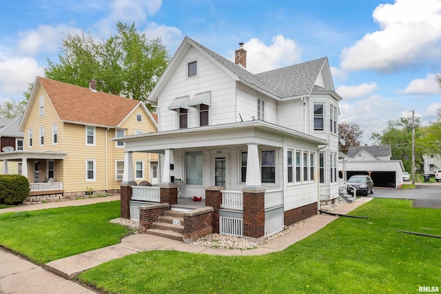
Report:
[[253,74],[300,62],[300,48],[280,34],[273,37],[269,46],[259,39],[250,39],[243,48],[247,50],[247,70]]

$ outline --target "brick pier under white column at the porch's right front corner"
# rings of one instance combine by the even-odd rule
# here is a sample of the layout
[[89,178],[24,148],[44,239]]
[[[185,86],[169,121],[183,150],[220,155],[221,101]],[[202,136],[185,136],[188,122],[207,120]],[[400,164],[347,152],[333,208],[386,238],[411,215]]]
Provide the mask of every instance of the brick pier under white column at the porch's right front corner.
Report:
[[265,237],[265,189],[243,189],[243,236]]

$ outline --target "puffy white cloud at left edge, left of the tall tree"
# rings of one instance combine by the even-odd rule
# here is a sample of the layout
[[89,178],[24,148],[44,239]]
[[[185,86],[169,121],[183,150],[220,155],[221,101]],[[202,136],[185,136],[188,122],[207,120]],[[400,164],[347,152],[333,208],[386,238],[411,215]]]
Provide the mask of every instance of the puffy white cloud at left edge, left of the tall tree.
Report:
[[43,69],[35,59],[13,57],[0,61],[0,93],[22,94],[37,75],[42,76]]

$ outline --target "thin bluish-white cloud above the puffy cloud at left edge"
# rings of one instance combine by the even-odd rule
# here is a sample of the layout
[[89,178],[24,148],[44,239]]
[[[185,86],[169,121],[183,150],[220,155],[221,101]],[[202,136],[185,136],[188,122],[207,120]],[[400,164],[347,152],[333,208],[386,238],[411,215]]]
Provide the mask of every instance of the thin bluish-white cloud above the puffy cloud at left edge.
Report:
[[17,42],[19,52],[30,54],[32,56],[41,52],[57,52],[63,33],[75,32],[81,33],[77,28],[70,28],[67,25],[39,25],[37,30],[20,32],[20,39]]

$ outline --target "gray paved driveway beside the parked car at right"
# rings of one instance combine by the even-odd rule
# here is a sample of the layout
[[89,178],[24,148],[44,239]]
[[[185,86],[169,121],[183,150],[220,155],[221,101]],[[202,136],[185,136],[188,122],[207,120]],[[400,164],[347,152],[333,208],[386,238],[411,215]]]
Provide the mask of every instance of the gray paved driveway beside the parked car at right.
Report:
[[376,187],[369,197],[414,200],[413,207],[441,209],[441,182],[416,183],[416,189],[392,189]]

